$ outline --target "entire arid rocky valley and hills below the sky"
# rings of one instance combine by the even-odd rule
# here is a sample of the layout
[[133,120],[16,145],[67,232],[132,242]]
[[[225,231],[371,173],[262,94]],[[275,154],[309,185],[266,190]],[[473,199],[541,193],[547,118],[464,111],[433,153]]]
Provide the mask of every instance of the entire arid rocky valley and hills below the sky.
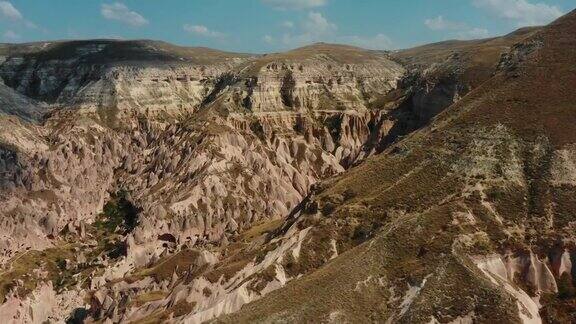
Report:
[[576,323],[576,12],[399,51],[0,44],[0,323]]

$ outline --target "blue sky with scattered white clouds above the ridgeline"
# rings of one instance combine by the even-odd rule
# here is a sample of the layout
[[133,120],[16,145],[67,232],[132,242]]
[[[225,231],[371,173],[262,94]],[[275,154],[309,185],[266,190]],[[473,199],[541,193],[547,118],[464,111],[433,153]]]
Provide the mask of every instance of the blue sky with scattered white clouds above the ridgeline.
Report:
[[547,24],[576,0],[0,0],[0,42],[154,39],[244,53],[393,50]]

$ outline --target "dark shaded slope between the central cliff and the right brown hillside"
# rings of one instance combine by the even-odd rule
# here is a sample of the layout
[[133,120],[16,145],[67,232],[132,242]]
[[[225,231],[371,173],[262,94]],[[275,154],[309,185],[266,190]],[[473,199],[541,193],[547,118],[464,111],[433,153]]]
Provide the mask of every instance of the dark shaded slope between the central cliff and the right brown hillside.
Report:
[[[395,126],[391,143],[425,125],[439,113],[504,69],[519,52],[515,45],[535,35],[538,27],[519,29],[502,37],[471,41],[446,41],[392,53],[408,73],[387,100],[397,100],[391,116]],[[528,46],[526,46],[528,47]],[[532,47],[530,47],[532,48]]]

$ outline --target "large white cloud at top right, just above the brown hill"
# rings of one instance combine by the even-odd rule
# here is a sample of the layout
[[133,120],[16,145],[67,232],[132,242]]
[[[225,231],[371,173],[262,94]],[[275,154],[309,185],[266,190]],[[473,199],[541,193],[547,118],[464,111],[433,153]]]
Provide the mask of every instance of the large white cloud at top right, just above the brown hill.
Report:
[[474,0],[473,3],[499,18],[514,21],[519,27],[544,25],[563,15],[556,6],[527,0]]

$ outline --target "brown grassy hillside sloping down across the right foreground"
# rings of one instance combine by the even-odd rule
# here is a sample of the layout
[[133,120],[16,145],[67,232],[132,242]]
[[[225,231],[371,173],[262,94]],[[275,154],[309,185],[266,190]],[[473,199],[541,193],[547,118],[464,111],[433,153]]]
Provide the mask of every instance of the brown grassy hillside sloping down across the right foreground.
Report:
[[534,33],[429,127],[326,182],[296,223],[346,252],[222,321],[573,322],[575,29],[572,12]]

